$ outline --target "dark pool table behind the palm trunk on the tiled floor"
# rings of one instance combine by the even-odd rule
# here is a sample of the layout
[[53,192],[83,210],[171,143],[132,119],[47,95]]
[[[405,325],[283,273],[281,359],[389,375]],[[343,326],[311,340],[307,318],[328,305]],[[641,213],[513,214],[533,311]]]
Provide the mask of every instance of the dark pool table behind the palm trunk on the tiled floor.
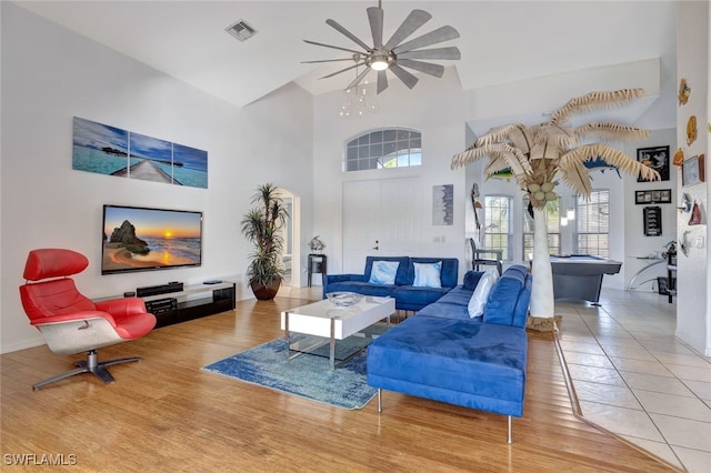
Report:
[[555,299],[582,299],[598,305],[604,274],[617,274],[620,261],[589,254],[551,256],[553,270],[553,296]]

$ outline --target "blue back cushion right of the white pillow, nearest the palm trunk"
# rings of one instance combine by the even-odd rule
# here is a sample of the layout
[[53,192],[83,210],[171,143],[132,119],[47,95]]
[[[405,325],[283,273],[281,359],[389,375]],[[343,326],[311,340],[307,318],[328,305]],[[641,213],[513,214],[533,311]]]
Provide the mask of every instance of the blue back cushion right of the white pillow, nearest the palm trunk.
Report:
[[484,323],[525,326],[531,299],[531,275],[513,265],[499,278],[484,306]]

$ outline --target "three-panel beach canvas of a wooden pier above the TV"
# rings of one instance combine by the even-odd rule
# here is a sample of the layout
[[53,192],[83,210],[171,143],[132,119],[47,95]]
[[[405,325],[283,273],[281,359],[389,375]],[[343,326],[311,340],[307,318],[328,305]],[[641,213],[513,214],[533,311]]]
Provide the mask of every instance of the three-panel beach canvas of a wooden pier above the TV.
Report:
[[74,117],[72,169],[208,188],[208,152]]

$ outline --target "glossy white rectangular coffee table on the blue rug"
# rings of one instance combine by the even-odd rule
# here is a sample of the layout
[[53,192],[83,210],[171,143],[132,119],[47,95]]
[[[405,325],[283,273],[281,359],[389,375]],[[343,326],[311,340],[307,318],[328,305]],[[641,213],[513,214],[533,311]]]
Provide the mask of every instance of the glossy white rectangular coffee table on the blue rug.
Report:
[[284,331],[287,350],[291,346],[290,332],[329,339],[329,365],[336,369],[336,341],[354,335],[387,319],[395,312],[395,300],[370,295],[354,305],[342,308],[328,299],[281,313],[281,330]]

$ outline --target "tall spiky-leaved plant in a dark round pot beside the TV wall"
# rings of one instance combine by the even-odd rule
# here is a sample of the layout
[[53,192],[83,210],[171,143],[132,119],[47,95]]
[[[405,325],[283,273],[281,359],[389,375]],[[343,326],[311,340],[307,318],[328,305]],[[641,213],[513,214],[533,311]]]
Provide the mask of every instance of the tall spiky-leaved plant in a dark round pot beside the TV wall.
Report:
[[253,245],[249,255],[247,279],[254,296],[260,301],[274,299],[284,275],[281,265],[284,227],[289,212],[272,183],[257,188],[251,201],[253,208],[242,218],[242,234]]

